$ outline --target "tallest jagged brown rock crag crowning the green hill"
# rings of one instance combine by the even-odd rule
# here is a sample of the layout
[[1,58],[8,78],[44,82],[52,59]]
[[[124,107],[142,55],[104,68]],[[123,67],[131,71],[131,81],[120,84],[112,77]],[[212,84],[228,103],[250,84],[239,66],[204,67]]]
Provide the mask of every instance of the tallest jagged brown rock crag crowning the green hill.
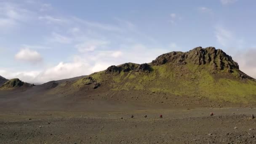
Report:
[[175,51],[165,53],[152,61],[152,65],[162,65],[170,62],[179,65],[185,65],[187,63],[197,65],[211,64],[213,70],[227,68],[229,72],[232,72],[232,69],[239,69],[238,64],[232,60],[231,56],[227,55],[221,49],[214,47],[197,47],[185,53]]

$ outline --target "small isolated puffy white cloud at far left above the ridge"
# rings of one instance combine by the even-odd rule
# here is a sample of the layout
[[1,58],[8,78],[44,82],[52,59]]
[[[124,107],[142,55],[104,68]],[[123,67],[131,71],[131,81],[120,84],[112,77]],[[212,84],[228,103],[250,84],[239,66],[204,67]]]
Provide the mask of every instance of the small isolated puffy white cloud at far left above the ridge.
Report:
[[15,59],[20,61],[28,61],[33,64],[43,60],[40,53],[30,50],[29,48],[22,48],[19,53],[15,55]]

